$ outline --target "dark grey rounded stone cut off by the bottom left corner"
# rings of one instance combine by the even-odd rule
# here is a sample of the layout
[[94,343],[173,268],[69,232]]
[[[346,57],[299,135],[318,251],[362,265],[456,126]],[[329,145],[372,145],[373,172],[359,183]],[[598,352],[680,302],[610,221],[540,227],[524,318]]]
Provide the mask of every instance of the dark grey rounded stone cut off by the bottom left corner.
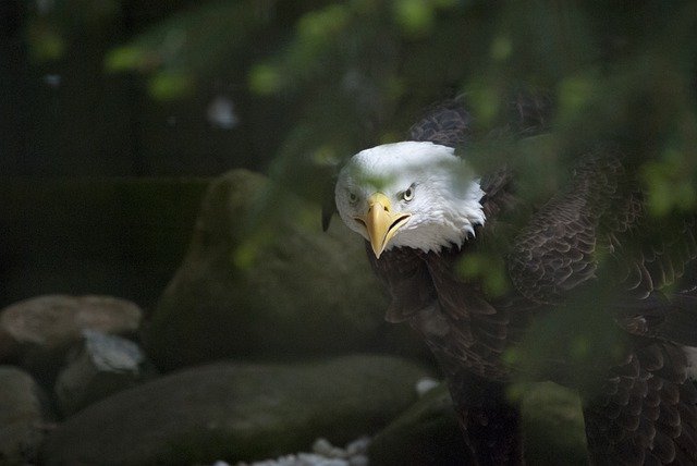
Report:
[[0,464],[34,464],[48,420],[41,390],[32,376],[0,366]]

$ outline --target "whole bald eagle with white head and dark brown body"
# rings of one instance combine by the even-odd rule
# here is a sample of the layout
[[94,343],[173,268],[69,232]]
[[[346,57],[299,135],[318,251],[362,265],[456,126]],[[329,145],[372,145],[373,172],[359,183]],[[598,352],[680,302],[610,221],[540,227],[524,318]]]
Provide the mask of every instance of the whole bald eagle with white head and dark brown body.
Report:
[[[416,329],[444,372],[468,461],[524,461],[506,388],[536,379],[578,391],[595,464],[697,464],[697,282],[681,281],[697,257],[694,218],[657,223],[610,150],[580,157],[546,203],[522,205],[514,170],[476,173],[461,157],[469,126],[463,107],[437,107],[408,140],[353,156],[334,188],[391,297],[387,320]],[[505,292],[463,273],[487,252]],[[566,324],[540,331],[555,317]],[[542,370],[516,364],[540,338]]]

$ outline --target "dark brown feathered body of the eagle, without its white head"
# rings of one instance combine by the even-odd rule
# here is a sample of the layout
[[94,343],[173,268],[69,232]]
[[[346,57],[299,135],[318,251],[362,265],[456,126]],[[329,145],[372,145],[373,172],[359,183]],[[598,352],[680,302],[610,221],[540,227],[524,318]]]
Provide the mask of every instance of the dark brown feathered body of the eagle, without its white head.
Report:
[[[415,125],[412,138],[461,144],[467,119],[450,106]],[[697,283],[680,280],[697,257],[695,223],[653,221],[637,186],[619,158],[584,157],[568,188],[534,211],[501,250],[501,240],[487,245],[519,207],[514,176],[501,170],[482,180],[487,221],[462,247],[392,248],[380,259],[368,249],[392,298],[387,319],[408,321],[433,352],[477,463],[523,461],[519,414],[505,387],[549,379],[579,390],[595,464],[697,464],[697,391],[682,347],[697,345]],[[493,249],[508,278],[501,295],[460,272],[468,255]],[[668,294],[667,286],[677,287]],[[564,312],[582,324],[558,330],[552,340],[562,351],[538,355],[542,369],[505,357],[529,347],[540,321]],[[586,329],[579,312],[592,322]],[[589,342],[591,353],[607,357],[575,366],[563,348],[594,336],[594,324],[611,329]],[[603,344],[610,346],[598,351]]]

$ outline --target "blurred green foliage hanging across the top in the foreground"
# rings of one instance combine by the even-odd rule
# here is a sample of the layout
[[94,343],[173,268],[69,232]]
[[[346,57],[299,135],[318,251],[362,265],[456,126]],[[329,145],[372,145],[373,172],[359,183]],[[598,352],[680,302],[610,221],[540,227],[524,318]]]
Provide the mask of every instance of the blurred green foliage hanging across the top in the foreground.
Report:
[[612,140],[664,216],[697,201],[696,10],[686,0],[56,0],[36,2],[25,33],[33,59],[51,61],[83,29],[146,17],[111,44],[103,70],[142,76],[154,100],[191,99],[228,79],[255,105],[278,107],[281,131],[260,121],[253,131],[276,142],[269,170],[313,197],[326,165],[400,139],[433,101],[465,94],[481,135],[505,124],[512,87],[548,89],[559,167]]

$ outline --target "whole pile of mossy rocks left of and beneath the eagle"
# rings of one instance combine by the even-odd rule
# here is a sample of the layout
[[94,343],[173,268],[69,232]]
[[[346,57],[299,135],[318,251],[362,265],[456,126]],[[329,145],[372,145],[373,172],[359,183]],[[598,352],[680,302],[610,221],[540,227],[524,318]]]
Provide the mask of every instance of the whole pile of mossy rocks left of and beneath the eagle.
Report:
[[68,295],[0,309],[0,464],[462,463],[423,342],[384,322],[363,242],[319,219],[232,171],[149,312]]

